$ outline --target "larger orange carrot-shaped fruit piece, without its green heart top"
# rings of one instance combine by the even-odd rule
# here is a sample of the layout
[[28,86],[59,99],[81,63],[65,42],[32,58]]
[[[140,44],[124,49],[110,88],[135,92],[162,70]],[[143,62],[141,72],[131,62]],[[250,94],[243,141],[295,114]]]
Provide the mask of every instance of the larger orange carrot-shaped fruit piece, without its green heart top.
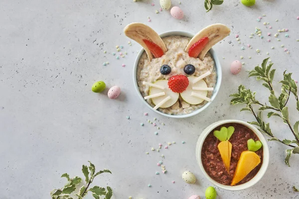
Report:
[[243,180],[256,166],[261,163],[261,158],[252,151],[243,151],[237,164],[231,186]]

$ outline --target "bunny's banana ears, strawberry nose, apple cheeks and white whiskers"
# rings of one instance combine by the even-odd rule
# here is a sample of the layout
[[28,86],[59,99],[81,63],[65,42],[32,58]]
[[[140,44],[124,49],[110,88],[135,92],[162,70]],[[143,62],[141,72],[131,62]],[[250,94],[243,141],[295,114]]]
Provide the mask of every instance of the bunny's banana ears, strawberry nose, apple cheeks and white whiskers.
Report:
[[[161,77],[157,77],[154,82],[143,82],[144,85],[149,86],[149,96],[144,97],[144,99],[152,100],[155,105],[153,109],[170,107],[179,99],[179,96],[185,102],[193,105],[200,104],[204,100],[210,101],[207,98],[207,93],[213,91],[214,88],[208,88],[204,81],[204,78],[211,75],[210,71],[197,77],[195,70],[199,70],[199,66],[188,63],[183,68],[183,73],[171,71],[171,60],[168,59],[169,63],[165,63],[167,60],[164,57],[167,54],[165,43],[153,29],[143,23],[131,23],[125,27],[124,32],[129,38],[142,45],[148,55],[149,63],[163,63],[151,66],[158,67],[154,70],[159,71],[160,74],[158,75]],[[198,32],[184,46],[184,52],[188,58],[202,62],[210,48],[229,33],[230,29],[223,24],[209,25]],[[168,49],[171,53],[178,53],[177,51],[172,52],[172,50]]]

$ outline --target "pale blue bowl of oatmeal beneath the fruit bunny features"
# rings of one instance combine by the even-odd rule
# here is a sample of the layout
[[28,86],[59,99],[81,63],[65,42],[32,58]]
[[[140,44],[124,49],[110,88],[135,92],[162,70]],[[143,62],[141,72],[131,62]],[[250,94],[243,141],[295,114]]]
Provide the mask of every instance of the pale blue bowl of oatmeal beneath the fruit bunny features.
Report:
[[[196,115],[211,104],[220,89],[222,72],[219,59],[212,48],[204,56],[203,60],[190,57],[184,49],[194,36],[192,33],[184,31],[168,31],[160,34],[159,36],[162,38],[167,48],[167,51],[162,57],[149,61],[144,49],[142,49],[137,55],[134,64],[133,77],[138,96],[151,110],[163,116],[184,118]],[[161,66],[164,65],[171,67],[171,72],[167,75],[162,75],[160,73]],[[195,67],[195,72],[190,76],[185,74],[184,67],[186,65],[192,65]],[[206,76],[207,73],[208,75]],[[145,85],[144,82],[162,83],[161,80],[168,81],[168,79],[173,75],[185,75],[189,79],[189,82],[193,80],[192,78],[205,76],[203,80],[206,83],[204,87],[207,87],[207,91],[203,91],[203,95],[206,96],[207,100],[198,101],[195,97],[190,96],[187,96],[186,98],[188,98],[188,100],[185,100],[184,97],[182,97],[183,95],[177,94],[177,100],[167,101],[167,103],[172,104],[170,107],[163,108],[163,106],[160,106],[155,109],[154,107],[156,103],[154,103],[152,99],[145,100],[145,97],[149,96],[151,93],[151,87],[148,84]],[[189,87],[191,87],[191,85],[189,85]],[[213,90],[208,90],[210,88],[213,88]],[[191,95],[191,92],[186,95]],[[174,96],[173,98],[175,99],[175,97],[177,96]],[[156,97],[155,100],[159,100],[159,98],[165,97]]]

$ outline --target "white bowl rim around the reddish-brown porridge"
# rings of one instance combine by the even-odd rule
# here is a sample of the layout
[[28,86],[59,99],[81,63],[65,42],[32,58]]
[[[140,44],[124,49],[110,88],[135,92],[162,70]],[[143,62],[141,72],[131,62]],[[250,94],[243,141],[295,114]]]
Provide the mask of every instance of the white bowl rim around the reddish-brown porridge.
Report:
[[[217,126],[220,126],[222,124],[226,124],[226,123],[237,123],[237,124],[242,124],[244,126],[247,126],[258,136],[258,138],[260,139],[260,141],[263,144],[263,163],[262,163],[262,166],[261,166],[259,172],[257,173],[257,175],[255,177],[253,177],[253,179],[251,179],[250,181],[248,181],[247,183],[244,183],[242,185],[228,186],[228,185],[222,185],[220,183],[217,183],[206,173],[206,171],[203,168],[202,162],[201,162],[201,147],[202,147],[202,144],[203,144],[205,138],[214,128],[216,128]],[[199,164],[199,167],[200,167],[202,173],[204,174],[204,176],[215,186],[217,186],[221,189],[224,189],[224,190],[229,190],[229,191],[244,190],[244,189],[250,188],[253,185],[255,185],[256,183],[258,183],[262,179],[264,174],[266,173],[266,170],[267,170],[268,164],[269,164],[269,158],[270,158],[269,147],[267,144],[267,140],[265,139],[263,134],[253,125],[251,125],[247,122],[235,120],[235,119],[221,120],[221,121],[218,121],[218,122],[215,122],[215,123],[209,125],[208,127],[206,127],[203,130],[203,132],[199,136],[197,144],[196,144],[196,160],[197,160],[197,163]]]

